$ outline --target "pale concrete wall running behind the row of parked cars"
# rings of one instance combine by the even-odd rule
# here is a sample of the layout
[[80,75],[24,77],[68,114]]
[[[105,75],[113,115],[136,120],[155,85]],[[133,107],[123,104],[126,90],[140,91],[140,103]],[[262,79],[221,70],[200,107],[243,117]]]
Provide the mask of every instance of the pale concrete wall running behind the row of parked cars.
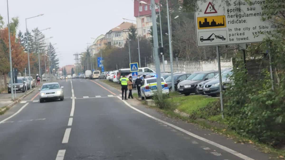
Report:
[[[155,70],[154,63],[148,63],[147,67]],[[221,69],[233,67],[233,63],[231,59],[223,59],[221,60]],[[173,61],[173,71],[174,72],[198,72],[198,71],[211,71],[218,70],[217,60],[209,60],[209,61]],[[160,71],[163,71],[163,64],[160,63]],[[167,61],[165,64],[165,71],[170,72],[170,61]]]

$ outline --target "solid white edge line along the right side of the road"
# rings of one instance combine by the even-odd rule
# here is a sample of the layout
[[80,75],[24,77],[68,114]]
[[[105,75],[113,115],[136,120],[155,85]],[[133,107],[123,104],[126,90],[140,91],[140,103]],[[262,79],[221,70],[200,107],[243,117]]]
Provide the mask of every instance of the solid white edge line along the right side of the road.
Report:
[[[117,97],[117,98],[121,100],[121,97]],[[232,150],[232,149],[230,149],[230,148],[228,148],[228,147],[225,147],[225,146],[220,145],[220,144],[218,144],[218,143],[215,143],[215,142],[213,142],[213,141],[207,140],[206,138],[200,137],[200,136],[198,136],[198,135],[196,135],[196,134],[194,134],[194,133],[191,133],[191,132],[189,132],[189,131],[187,131],[187,130],[184,130],[184,129],[178,127],[178,126],[175,126],[175,125],[173,125],[173,124],[170,124],[170,123],[168,123],[168,122],[165,122],[164,120],[160,120],[160,119],[158,119],[158,118],[156,118],[156,117],[154,117],[154,116],[151,116],[151,115],[149,115],[149,114],[147,114],[147,113],[145,113],[145,112],[143,112],[143,111],[141,111],[141,110],[139,110],[139,109],[137,109],[137,108],[131,106],[131,105],[130,105],[128,102],[126,102],[125,100],[122,100],[122,101],[123,101],[127,106],[129,106],[130,108],[132,108],[132,109],[134,109],[134,110],[140,112],[141,114],[144,114],[145,116],[148,116],[149,118],[152,118],[152,119],[154,119],[154,120],[157,120],[157,121],[159,121],[159,122],[161,122],[161,123],[164,123],[164,124],[166,124],[166,125],[168,125],[168,126],[171,126],[172,128],[175,128],[176,130],[180,130],[181,132],[184,132],[185,134],[188,134],[189,136],[192,136],[192,137],[194,137],[194,138],[197,138],[198,140],[204,141],[204,142],[209,143],[209,144],[211,144],[211,145],[213,145],[213,146],[216,146],[216,147],[218,147],[218,148],[220,148],[220,149],[223,149],[224,151],[227,151],[227,152],[229,152],[229,153],[231,153],[231,154],[233,154],[233,155],[235,155],[235,156],[237,156],[237,157],[240,157],[241,159],[245,159],[245,160],[255,160],[255,159],[252,159],[252,158],[250,158],[250,157],[247,157],[246,155],[243,155],[243,154],[241,154],[241,153],[239,153],[239,152],[237,152],[237,151],[234,151],[234,150]]]

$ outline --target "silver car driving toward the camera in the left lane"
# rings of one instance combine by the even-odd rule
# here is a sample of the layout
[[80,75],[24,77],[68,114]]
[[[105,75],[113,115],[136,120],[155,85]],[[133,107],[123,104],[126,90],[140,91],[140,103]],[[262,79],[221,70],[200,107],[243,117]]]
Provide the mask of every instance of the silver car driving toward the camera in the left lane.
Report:
[[57,82],[44,83],[38,90],[40,91],[40,103],[44,100],[64,100],[63,86],[60,87]]

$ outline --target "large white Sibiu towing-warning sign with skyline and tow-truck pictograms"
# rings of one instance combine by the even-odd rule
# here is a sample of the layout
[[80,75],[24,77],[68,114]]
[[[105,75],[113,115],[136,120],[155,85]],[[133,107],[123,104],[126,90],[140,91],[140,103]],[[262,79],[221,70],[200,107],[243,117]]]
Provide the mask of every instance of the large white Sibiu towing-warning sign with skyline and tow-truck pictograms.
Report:
[[269,21],[261,21],[266,8],[260,3],[198,0],[196,5],[198,46],[261,42],[268,36],[264,33],[272,33],[278,27]]

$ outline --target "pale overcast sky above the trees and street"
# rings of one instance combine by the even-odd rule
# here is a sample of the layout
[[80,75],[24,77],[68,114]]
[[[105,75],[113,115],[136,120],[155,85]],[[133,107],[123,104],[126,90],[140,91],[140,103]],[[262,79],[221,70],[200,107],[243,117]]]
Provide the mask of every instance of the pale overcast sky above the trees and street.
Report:
[[[25,31],[25,18],[39,14],[43,16],[27,20],[28,29],[38,27],[60,55],[60,67],[74,64],[75,53],[84,52],[86,43],[92,43],[111,28],[121,24],[122,18],[133,19],[133,0],[8,0],[9,17],[19,17],[19,30]],[[0,0],[0,15],[7,24],[7,0]],[[131,22],[131,21],[129,21]]]

